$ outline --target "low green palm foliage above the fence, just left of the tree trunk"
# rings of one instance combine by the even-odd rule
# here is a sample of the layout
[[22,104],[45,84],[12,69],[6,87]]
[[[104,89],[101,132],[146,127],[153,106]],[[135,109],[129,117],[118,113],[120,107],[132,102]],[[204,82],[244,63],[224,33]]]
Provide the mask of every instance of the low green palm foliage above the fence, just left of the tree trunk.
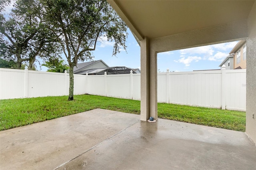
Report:
[[49,59],[49,61],[46,61],[42,64],[42,66],[45,66],[48,68],[47,71],[49,72],[57,72],[57,73],[64,73],[65,70],[68,72],[69,67],[64,62],[64,60],[59,60],[58,58],[55,59]]

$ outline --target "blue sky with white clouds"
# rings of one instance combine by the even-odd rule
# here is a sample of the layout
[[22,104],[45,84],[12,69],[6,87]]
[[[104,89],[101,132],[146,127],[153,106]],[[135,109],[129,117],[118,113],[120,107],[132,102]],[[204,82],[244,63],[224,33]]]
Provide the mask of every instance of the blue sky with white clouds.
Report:
[[[158,71],[166,72],[167,68],[170,71],[220,69],[218,66],[229,55],[236,43],[237,41],[158,53]],[[93,51],[94,60],[102,59],[110,67],[140,68],[140,46],[130,30],[128,30],[126,46],[127,52],[121,49],[120,53],[112,56],[113,42],[108,42],[105,37],[102,37],[102,40],[97,43],[96,50]],[[43,66],[41,71],[46,70],[47,68]]]

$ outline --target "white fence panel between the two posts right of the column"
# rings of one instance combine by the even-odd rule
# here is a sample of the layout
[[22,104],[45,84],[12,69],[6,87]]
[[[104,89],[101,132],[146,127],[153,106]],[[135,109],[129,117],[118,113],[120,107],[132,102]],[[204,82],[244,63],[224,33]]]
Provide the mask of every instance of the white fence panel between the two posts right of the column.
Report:
[[174,72],[169,84],[170,103],[221,107],[221,71]]

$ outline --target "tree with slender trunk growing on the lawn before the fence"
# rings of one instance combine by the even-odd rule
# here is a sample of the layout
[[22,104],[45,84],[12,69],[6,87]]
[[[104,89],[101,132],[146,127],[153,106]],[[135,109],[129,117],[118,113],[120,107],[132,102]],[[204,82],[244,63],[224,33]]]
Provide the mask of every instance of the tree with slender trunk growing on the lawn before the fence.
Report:
[[126,49],[127,26],[106,0],[43,0],[49,23],[70,66],[68,100],[74,96],[74,66],[92,58],[100,37],[114,41],[113,55]]

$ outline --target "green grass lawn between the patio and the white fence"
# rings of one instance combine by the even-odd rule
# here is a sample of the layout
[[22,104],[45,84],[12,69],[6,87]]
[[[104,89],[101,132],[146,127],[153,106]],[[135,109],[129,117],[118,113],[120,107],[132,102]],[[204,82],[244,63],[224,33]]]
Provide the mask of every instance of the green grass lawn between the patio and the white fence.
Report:
[[[30,125],[92,109],[140,114],[140,101],[95,95],[0,100],[0,130]],[[205,107],[158,103],[158,118],[245,131],[246,114]]]

